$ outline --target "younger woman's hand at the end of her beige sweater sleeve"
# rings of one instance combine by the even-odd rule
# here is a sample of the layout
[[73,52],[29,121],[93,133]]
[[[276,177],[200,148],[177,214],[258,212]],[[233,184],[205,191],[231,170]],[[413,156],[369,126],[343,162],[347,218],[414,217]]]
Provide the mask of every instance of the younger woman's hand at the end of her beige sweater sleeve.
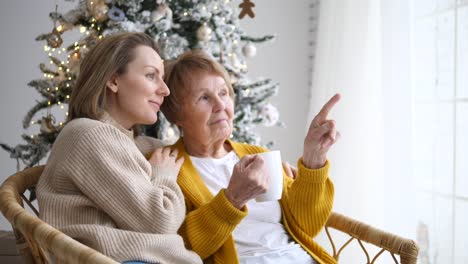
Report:
[[170,147],[157,148],[148,161],[158,171],[158,175],[169,175],[175,179],[184,163],[184,157],[177,159],[178,153],[177,149]]

